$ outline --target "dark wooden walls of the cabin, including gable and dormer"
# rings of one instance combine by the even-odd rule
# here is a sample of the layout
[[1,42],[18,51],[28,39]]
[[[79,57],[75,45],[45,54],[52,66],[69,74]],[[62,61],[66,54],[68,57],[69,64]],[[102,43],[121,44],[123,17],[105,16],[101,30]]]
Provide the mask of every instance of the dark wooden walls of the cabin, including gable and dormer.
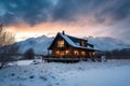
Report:
[[[72,38],[74,39],[74,38]],[[64,47],[58,47],[57,46],[57,41],[64,41]],[[87,46],[87,41],[86,40],[75,40],[78,42],[81,46]],[[83,43],[83,44],[82,44]],[[79,45],[79,46],[80,46]],[[76,48],[70,46],[58,33],[56,38],[54,39],[53,43],[49,47],[50,51],[52,51],[52,56],[57,57],[57,58],[90,58],[92,57],[92,54],[94,53],[93,49],[87,49],[87,48]],[[69,53],[66,53],[66,51],[69,51]],[[76,55],[74,52],[77,51],[79,54]],[[83,52],[84,55],[81,54]],[[94,57],[94,56],[93,56]]]

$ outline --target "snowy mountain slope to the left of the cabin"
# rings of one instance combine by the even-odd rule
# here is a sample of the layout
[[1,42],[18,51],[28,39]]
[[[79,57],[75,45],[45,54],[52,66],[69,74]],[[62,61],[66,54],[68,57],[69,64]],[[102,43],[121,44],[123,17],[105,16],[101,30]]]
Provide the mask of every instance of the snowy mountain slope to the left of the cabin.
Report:
[[35,54],[47,54],[47,48],[51,44],[54,38],[48,38],[46,35],[38,38],[29,38],[25,41],[18,42],[18,53],[24,54],[27,49],[32,48]]

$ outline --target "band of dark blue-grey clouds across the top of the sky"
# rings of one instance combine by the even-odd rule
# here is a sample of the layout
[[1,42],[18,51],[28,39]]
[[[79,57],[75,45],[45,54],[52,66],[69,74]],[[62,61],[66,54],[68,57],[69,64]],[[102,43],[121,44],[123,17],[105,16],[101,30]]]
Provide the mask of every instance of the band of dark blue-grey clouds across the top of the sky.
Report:
[[32,26],[50,18],[70,22],[89,15],[102,24],[130,15],[130,0],[0,0],[0,17],[5,25],[24,20]]

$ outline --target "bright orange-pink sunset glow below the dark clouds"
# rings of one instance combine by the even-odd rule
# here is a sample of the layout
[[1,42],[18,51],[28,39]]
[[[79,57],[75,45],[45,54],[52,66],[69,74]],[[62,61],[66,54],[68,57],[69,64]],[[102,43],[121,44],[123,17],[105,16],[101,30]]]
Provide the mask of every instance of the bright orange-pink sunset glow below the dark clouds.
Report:
[[[43,34],[48,37],[55,37],[57,32],[61,32],[63,30],[65,30],[67,34],[72,34],[74,37],[79,37],[79,38],[88,37],[88,35],[95,37],[96,35],[95,32],[99,31],[99,29],[103,28],[102,26],[99,25],[92,25],[86,23],[87,19],[84,20],[82,18],[80,19],[79,22],[76,23],[74,22],[69,24],[63,22],[54,22],[54,23],[47,22],[47,23],[37,24],[35,26],[29,26],[25,23],[21,23],[20,25],[15,25],[15,26],[6,26],[5,28],[15,33],[17,41],[22,41],[27,38],[40,37]],[[86,24],[86,26],[82,24]]]

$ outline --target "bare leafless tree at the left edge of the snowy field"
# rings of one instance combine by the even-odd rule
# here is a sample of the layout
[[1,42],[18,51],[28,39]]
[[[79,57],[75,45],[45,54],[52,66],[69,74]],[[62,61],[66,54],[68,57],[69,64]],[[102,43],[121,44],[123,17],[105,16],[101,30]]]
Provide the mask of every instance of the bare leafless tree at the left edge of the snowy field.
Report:
[[13,46],[15,37],[9,31],[5,31],[0,25],[0,69],[3,68],[6,62],[12,61],[11,54],[16,52],[16,46]]

